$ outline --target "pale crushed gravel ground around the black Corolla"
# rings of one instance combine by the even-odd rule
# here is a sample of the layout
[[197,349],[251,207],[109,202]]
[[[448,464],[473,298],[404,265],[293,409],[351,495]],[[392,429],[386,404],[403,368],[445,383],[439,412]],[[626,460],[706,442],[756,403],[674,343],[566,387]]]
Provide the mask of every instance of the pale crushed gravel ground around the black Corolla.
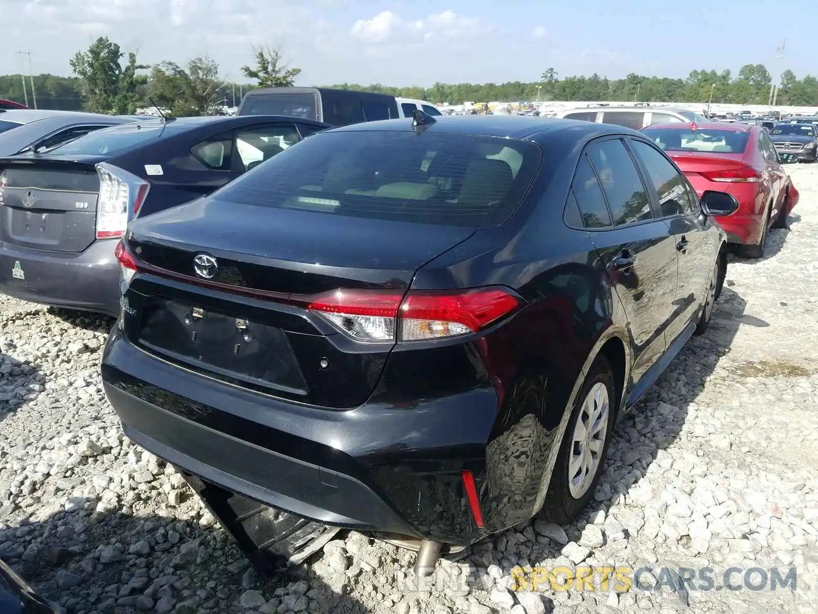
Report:
[[[78,614],[816,612],[818,165],[791,172],[791,228],[764,260],[731,258],[710,331],[618,427],[587,515],[475,544],[429,585],[412,584],[411,553],[354,533],[256,578],[181,476],[122,435],[97,372],[112,322],[0,298],[0,558]],[[510,591],[529,565],[650,572],[621,593]],[[760,590],[719,588],[730,567],[734,585],[794,568],[797,588],[758,571]]]

